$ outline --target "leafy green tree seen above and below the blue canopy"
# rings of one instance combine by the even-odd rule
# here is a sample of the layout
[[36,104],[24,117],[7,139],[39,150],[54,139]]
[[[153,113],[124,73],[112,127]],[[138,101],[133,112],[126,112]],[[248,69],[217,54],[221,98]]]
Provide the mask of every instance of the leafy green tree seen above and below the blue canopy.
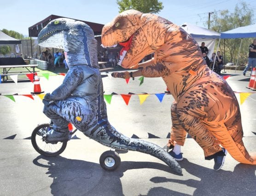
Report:
[[[246,4],[245,2],[240,2],[240,4],[237,4],[233,12],[229,12],[228,10],[222,10],[220,12],[215,11],[210,29],[221,33],[238,27],[250,25],[253,23],[253,13],[253,10],[250,9],[250,4]],[[252,39],[253,38],[246,38],[242,40],[241,51],[239,55],[240,65],[247,63],[249,45],[252,43]],[[241,39],[225,39],[225,63],[237,63],[240,42]],[[223,39],[220,42],[220,51],[223,55]]]

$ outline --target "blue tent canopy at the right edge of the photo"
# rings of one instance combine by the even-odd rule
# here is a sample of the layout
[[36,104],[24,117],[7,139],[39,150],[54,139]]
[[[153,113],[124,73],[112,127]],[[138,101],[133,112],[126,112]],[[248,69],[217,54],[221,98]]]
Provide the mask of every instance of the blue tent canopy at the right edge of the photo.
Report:
[[238,27],[221,33],[221,39],[256,37],[256,24]]

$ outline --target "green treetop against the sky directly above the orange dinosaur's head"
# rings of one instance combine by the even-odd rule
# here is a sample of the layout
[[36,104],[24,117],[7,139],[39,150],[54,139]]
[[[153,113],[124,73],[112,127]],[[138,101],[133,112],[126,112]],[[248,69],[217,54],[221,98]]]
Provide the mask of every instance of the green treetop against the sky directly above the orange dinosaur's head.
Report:
[[158,13],[163,9],[163,3],[158,0],[116,0],[119,13],[125,10],[138,10],[143,13]]

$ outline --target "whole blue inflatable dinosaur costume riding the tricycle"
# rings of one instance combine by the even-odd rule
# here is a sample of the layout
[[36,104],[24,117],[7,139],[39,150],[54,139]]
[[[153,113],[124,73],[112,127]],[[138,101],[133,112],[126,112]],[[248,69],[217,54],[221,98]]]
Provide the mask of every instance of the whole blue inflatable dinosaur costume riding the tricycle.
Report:
[[44,98],[53,101],[43,110],[53,121],[53,129],[47,133],[47,140],[67,140],[68,124],[71,122],[87,137],[100,144],[150,154],[181,173],[180,165],[161,147],[128,138],[109,123],[97,59],[97,41],[87,24],[58,18],[41,30],[38,40],[40,46],[63,49],[69,66],[63,83]]

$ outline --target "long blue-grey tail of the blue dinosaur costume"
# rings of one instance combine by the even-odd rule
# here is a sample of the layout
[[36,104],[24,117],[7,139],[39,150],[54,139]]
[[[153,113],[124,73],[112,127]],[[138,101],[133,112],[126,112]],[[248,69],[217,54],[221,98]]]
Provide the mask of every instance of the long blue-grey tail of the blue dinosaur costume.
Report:
[[165,162],[175,172],[182,173],[181,167],[177,161],[163,150],[163,148],[151,142],[128,138],[122,133],[117,132],[108,121],[98,122],[92,129],[83,133],[100,144],[114,149],[139,151],[154,156]]

